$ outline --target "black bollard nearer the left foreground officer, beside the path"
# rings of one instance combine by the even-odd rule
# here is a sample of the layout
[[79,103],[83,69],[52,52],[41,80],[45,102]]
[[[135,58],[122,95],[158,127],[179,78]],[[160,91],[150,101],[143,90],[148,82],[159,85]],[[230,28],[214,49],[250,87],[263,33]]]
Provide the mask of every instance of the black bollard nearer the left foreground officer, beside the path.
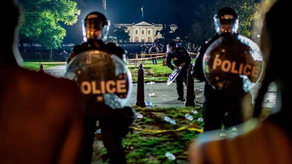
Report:
[[144,101],[144,70],[143,70],[143,65],[139,65],[139,70],[138,70],[138,82],[137,82],[137,101],[136,101],[136,106],[138,107],[146,107],[145,106],[145,101]]

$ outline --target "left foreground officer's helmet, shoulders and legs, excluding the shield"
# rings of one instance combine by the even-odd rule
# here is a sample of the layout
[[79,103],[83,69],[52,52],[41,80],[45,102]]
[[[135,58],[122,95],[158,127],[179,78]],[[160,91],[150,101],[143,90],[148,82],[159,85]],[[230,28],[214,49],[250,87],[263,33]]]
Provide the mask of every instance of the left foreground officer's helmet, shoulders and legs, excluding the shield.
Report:
[[[109,21],[102,13],[89,13],[83,21],[83,43],[73,48],[68,62],[74,56],[91,49],[103,50],[109,54],[115,54],[124,60],[125,55],[122,48],[117,47],[114,43],[104,43],[107,39],[109,25]],[[86,102],[85,108],[85,111],[87,111],[84,114],[84,128],[86,132],[84,134],[83,153],[81,154],[79,163],[91,163],[96,120],[99,121],[102,140],[109,155],[109,163],[126,163],[121,140],[127,134],[129,126],[133,122],[134,113],[132,108],[124,107],[113,110],[108,105],[97,104],[94,100]],[[91,114],[91,108],[98,109],[99,113],[97,115]]]

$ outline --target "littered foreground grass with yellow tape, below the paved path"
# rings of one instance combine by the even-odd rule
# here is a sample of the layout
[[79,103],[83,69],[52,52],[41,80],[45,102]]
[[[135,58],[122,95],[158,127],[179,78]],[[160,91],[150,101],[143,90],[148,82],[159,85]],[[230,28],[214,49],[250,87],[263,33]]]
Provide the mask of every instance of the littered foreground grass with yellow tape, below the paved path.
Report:
[[[135,107],[134,107],[135,108]],[[137,118],[132,125],[132,133],[123,139],[123,147],[126,152],[128,164],[187,164],[188,148],[202,131],[204,122],[198,121],[203,117],[201,107],[182,108],[135,108],[137,114],[143,118]],[[192,114],[197,110],[198,114]],[[192,121],[185,119],[185,114],[191,114]],[[261,117],[267,118],[270,108],[263,108]],[[176,121],[175,125],[166,122],[163,118],[168,116]],[[107,153],[101,140],[101,134],[95,135],[93,144],[93,164],[108,164]],[[166,152],[171,152],[176,157],[175,161],[165,157]]]

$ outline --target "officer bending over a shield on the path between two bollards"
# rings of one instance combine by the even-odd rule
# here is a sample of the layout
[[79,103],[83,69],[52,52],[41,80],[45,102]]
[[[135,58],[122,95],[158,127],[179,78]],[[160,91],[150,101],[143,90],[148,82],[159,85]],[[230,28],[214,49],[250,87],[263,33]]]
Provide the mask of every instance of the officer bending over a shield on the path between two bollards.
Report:
[[[174,65],[171,64],[173,60]],[[178,74],[175,82],[177,84],[178,100],[185,101],[183,98],[183,82],[187,83],[188,66],[191,64],[191,56],[183,47],[178,47],[175,42],[170,42],[167,45],[166,65],[171,69],[178,69],[182,66],[182,70]]]

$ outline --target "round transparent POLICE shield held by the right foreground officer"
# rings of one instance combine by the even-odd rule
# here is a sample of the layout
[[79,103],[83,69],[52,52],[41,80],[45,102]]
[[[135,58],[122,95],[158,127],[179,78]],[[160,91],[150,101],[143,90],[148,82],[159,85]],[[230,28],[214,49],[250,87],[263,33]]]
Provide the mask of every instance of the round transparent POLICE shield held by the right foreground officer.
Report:
[[229,35],[213,42],[203,57],[203,72],[212,88],[236,94],[250,91],[261,77],[258,46],[244,36]]

